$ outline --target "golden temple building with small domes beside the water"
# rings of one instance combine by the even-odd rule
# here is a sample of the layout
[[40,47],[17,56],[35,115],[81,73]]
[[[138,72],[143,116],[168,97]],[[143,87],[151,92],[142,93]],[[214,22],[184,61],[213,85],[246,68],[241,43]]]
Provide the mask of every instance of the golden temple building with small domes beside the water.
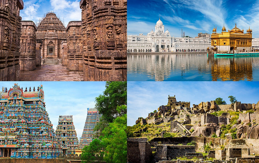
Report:
[[227,51],[237,50],[240,51],[251,51],[252,50],[252,30],[240,30],[235,27],[232,30],[226,31],[223,25],[222,32],[217,33],[216,28],[213,28],[211,34],[211,47],[210,50],[214,50],[217,53],[226,53]]

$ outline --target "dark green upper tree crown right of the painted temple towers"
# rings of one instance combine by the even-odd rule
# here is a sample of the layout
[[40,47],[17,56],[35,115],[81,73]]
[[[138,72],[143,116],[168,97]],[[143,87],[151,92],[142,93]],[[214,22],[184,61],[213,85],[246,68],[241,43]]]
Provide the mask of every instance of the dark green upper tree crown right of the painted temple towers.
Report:
[[106,82],[105,88],[103,95],[95,98],[95,108],[103,114],[103,120],[112,122],[127,113],[127,107],[117,110],[117,106],[127,105],[127,82]]

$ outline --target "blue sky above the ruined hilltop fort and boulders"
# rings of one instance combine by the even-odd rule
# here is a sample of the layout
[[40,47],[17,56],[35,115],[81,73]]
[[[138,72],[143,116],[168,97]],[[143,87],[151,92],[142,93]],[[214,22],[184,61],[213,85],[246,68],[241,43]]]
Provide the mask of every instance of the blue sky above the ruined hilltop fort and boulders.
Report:
[[127,124],[132,126],[138,117],[166,105],[168,95],[177,101],[192,104],[223,98],[230,104],[228,96],[236,97],[241,103],[259,101],[259,82],[127,82]]

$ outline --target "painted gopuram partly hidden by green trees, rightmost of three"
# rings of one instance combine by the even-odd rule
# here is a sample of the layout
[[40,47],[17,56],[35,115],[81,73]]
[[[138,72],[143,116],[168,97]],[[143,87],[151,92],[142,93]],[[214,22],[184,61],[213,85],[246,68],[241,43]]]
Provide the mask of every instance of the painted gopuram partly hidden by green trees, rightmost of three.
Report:
[[87,108],[87,117],[85,120],[82,137],[80,138],[79,149],[83,149],[85,145],[89,145],[89,143],[93,141],[93,129],[96,123],[100,121],[101,117],[102,114],[99,114],[97,109]]

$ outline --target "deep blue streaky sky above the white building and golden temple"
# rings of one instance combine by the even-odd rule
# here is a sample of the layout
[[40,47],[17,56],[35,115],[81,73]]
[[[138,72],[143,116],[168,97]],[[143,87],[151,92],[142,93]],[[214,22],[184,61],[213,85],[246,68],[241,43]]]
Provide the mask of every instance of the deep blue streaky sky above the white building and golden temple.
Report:
[[154,30],[159,17],[171,36],[196,37],[200,32],[211,34],[213,27],[221,32],[237,27],[253,30],[253,38],[259,37],[258,0],[130,0],[128,1],[128,35],[147,34]]

